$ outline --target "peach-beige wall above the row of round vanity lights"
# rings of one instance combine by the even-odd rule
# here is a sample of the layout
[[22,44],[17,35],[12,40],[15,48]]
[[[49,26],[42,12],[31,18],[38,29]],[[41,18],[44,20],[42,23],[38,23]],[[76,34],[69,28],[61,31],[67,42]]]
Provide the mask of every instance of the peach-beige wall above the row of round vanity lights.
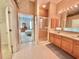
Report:
[[62,9],[67,9],[75,4],[78,4],[79,0],[62,0],[60,3],[57,4],[57,12]]

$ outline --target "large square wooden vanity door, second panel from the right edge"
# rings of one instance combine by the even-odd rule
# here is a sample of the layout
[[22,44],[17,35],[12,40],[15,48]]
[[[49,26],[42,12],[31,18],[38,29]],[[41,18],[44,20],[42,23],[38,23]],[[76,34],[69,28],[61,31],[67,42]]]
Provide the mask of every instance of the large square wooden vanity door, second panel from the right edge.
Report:
[[72,55],[73,51],[73,40],[70,38],[62,38],[62,45],[61,48]]

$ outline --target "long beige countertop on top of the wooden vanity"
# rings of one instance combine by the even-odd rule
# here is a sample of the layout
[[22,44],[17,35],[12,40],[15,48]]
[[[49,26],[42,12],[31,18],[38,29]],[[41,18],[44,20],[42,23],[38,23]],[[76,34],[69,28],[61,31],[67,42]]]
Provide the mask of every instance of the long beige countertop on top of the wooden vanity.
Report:
[[77,33],[68,33],[68,32],[58,32],[58,31],[55,31],[55,30],[52,30],[52,29],[49,29],[49,33],[53,33],[53,34],[57,34],[57,35],[60,35],[60,36],[64,36],[64,37],[68,37],[68,38],[71,38],[73,40],[79,40],[79,34]]

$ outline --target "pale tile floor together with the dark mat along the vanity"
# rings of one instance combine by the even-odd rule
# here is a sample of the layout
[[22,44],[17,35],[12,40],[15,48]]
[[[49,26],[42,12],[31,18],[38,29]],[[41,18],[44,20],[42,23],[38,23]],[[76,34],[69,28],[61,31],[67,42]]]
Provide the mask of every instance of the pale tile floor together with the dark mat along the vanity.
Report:
[[[61,51],[62,52],[62,51]],[[12,59],[74,59],[51,44],[23,44]]]

